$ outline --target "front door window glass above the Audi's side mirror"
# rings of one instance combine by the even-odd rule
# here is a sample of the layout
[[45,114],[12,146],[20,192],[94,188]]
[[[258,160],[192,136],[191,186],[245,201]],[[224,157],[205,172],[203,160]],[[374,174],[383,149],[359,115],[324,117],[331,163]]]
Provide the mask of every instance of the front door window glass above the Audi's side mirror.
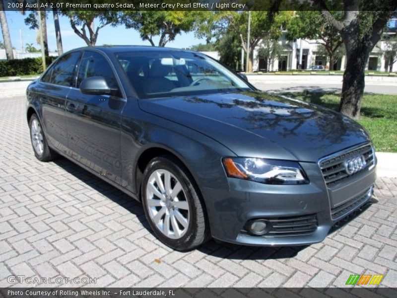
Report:
[[97,52],[85,51],[78,71],[77,88],[91,76],[102,76],[110,88],[118,89],[116,77],[105,57]]

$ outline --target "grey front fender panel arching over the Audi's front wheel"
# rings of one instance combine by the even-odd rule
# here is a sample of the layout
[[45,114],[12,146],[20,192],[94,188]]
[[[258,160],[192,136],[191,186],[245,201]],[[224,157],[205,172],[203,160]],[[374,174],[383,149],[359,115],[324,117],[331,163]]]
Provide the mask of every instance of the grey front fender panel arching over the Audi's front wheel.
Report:
[[200,189],[227,187],[221,158],[235,156],[230,149],[197,131],[140,110],[131,118],[123,117],[121,148],[123,186],[133,193],[139,190],[138,160],[147,150],[175,155]]

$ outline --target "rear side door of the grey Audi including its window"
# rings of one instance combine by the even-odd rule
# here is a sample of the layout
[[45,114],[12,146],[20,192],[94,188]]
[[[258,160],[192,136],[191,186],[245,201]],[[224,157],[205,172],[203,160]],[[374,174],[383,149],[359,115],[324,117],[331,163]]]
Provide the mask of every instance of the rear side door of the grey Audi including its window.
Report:
[[65,101],[81,52],[66,53],[40,81],[40,105],[46,137],[53,147],[67,151]]

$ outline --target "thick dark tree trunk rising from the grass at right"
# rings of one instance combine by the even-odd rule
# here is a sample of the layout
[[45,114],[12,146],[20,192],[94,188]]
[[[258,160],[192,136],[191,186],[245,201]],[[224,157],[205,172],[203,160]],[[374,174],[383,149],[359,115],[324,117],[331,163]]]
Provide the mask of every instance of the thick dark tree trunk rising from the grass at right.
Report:
[[364,42],[348,42],[345,46],[347,63],[343,74],[339,111],[358,119],[365,87],[365,65],[372,47]]

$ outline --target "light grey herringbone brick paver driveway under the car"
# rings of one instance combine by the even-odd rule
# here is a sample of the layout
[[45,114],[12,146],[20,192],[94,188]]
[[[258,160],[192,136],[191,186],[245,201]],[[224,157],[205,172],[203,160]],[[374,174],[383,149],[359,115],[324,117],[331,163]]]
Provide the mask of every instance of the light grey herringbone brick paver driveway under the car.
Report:
[[24,97],[0,102],[0,287],[16,275],[96,278],[89,286],[98,287],[341,287],[350,274],[384,274],[381,286],[397,285],[396,179],[379,178],[379,203],[316,245],[210,241],[176,252],[122,192],[65,158],[36,160]]

